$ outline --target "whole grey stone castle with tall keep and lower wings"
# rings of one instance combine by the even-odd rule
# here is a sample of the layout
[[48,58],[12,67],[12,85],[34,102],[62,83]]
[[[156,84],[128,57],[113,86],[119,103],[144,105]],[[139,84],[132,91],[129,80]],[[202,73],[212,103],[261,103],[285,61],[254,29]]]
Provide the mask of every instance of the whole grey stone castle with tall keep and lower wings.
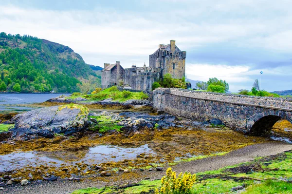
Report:
[[172,78],[185,77],[186,52],[181,51],[175,40],[170,40],[170,44],[159,44],[158,49],[149,55],[149,67],[132,67],[124,69],[120,61],[114,64],[105,63],[101,75],[102,88],[112,85],[119,85],[122,81],[135,90],[151,90],[155,81],[163,78],[165,74],[171,74]]

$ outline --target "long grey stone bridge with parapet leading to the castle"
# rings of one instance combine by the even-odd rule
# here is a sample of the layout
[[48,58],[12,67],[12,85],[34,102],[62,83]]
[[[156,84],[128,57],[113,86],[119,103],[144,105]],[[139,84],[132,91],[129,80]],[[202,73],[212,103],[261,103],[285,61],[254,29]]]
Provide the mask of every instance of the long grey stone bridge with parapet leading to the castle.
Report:
[[253,135],[270,132],[281,118],[292,123],[292,99],[158,88],[153,100],[157,111],[199,121],[217,118],[234,130]]

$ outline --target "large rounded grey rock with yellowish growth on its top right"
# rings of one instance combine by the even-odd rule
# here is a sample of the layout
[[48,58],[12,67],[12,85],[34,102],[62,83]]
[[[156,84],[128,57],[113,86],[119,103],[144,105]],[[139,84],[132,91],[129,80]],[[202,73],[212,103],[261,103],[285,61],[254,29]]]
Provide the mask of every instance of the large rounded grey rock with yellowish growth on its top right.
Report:
[[70,136],[85,129],[87,116],[88,109],[80,105],[46,107],[13,117],[15,128],[10,131],[13,136]]

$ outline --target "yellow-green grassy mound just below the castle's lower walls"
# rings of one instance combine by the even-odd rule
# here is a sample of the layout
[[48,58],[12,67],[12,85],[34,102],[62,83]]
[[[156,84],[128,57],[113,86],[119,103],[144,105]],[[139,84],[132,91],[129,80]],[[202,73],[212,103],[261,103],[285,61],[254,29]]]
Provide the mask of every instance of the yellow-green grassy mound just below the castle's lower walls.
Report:
[[82,95],[81,93],[73,93],[73,95],[69,96],[68,98],[74,99],[77,97],[83,97],[93,101],[100,101],[112,98],[114,101],[124,102],[129,99],[147,99],[148,95],[145,94],[144,92],[129,92],[126,90],[119,91],[116,86],[112,86],[96,94]]

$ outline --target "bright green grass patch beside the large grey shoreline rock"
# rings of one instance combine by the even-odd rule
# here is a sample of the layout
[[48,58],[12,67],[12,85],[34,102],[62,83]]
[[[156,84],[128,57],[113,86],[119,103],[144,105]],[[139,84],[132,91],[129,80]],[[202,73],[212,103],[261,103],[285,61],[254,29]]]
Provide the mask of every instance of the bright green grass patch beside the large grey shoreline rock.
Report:
[[116,130],[120,132],[123,126],[117,125],[117,121],[113,122],[108,116],[89,116],[94,118],[98,123],[90,130],[98,133],[106,133],[110,130]]

